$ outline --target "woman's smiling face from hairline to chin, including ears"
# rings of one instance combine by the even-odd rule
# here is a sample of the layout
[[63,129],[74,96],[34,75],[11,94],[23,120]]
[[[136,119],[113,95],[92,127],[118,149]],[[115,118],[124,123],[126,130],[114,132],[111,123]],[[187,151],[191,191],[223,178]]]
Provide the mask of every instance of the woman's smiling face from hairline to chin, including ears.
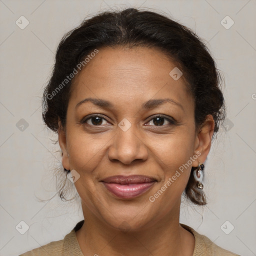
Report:
[[157,49],[117,47],[99,49],[75,77],[59,143],[63,166],[80,175],[74,184],[88,218],[134,230],[178,219],[212,132],[196,132],[193,98],[175,73]]

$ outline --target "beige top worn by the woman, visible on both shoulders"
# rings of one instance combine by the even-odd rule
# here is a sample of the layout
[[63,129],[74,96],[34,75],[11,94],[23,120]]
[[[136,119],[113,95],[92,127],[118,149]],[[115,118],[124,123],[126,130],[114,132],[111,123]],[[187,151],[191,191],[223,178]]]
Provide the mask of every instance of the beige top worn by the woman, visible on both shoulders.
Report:
[[[75,235],[75,231],[82,226],[83,222],[84,220],[79,221],[76,226],[65,235],[64,239],[50,242],[41,247],[27,251],[19,256],[83,256]],[[195,246],[193,256],[239,256],[238,254],[220,248],[208,237],[197,233],[190,226],[181,223],[180,225],[194,235]]]

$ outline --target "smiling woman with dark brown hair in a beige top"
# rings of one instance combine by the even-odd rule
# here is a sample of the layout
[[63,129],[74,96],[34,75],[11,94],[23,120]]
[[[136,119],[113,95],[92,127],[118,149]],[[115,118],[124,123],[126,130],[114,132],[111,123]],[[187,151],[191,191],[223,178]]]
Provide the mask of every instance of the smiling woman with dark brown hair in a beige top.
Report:
[[237,255],[179,223],[183,191],[206,204],[203,162],[225,116],[219,82],[201,40],[151,11],[104,12],[67,33],[43,120],[85,220],[22,255]]

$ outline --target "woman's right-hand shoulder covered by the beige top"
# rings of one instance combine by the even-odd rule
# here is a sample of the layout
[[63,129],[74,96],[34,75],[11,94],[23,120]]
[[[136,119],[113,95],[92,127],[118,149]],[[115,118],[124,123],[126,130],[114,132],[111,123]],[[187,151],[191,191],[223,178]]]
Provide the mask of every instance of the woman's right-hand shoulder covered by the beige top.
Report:
[[225,250],[218,245],[216,245],[214,242],[212,242],[207,236],[199,234],[196,232],[192,227],[187,226],[185,224],[180,225],[191,232],[195,238],[195,245],[194,245],[194,252],[193,256],[203,256],[203,255],[221,255],[221,256],[239,256],[238,254],[235,254],[229,250]]

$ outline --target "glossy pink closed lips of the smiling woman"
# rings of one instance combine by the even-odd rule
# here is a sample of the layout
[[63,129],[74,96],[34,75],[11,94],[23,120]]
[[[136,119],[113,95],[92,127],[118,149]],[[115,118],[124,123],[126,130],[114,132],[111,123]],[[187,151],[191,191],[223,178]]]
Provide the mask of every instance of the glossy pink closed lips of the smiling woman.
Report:
[[144,175],[111,176],[102,180],[108,191],[120,198],[133,198],[147,191],[157,181]]

